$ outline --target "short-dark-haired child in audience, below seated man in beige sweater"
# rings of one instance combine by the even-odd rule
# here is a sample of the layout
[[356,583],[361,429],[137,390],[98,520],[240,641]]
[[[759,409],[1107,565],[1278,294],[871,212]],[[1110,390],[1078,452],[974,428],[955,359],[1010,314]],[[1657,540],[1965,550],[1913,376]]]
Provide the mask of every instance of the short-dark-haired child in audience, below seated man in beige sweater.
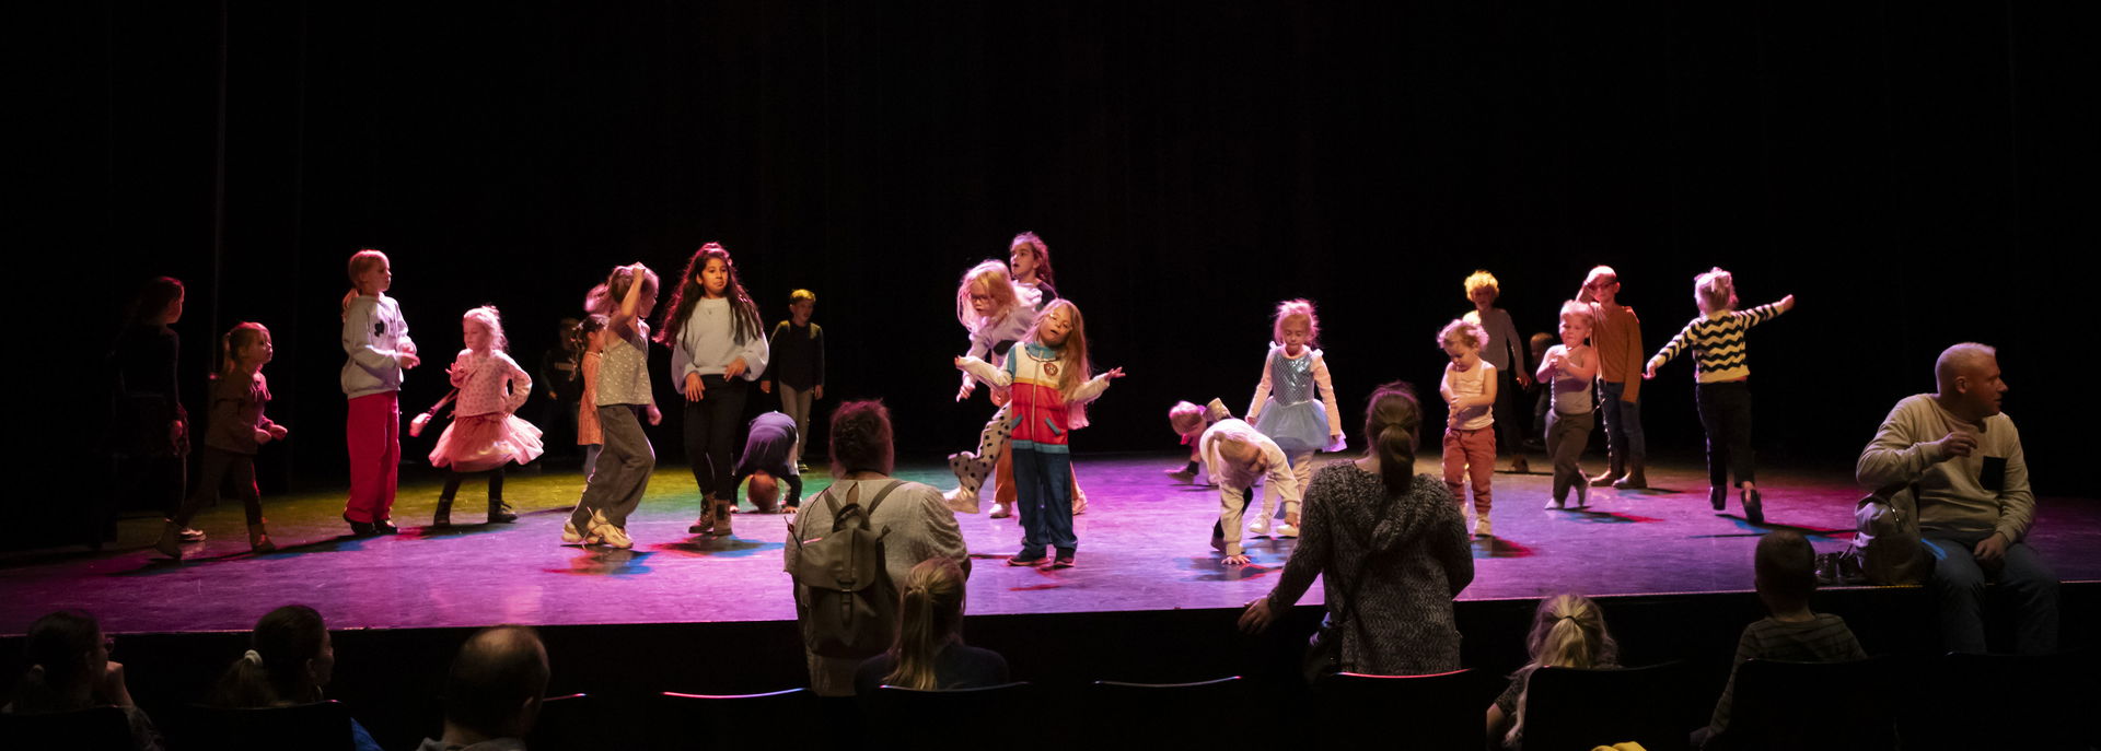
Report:
[[1735,669],[1744,667],[1744,661],[1838,663],[1868,659],[1845,619],[1809,610],[1809,594],[1817,589],[1815,558],[1809,539],[1792,529],[1759,539],[1759,552],[1752,558],[1754,587],[1771,615],[1744,627],[1744,636],[1735,642],[1729,684],[1723,686],[1721,701],[1714,703],[1714,720],[1693,732],[1693,745],[1704,745],[1729,728]]

